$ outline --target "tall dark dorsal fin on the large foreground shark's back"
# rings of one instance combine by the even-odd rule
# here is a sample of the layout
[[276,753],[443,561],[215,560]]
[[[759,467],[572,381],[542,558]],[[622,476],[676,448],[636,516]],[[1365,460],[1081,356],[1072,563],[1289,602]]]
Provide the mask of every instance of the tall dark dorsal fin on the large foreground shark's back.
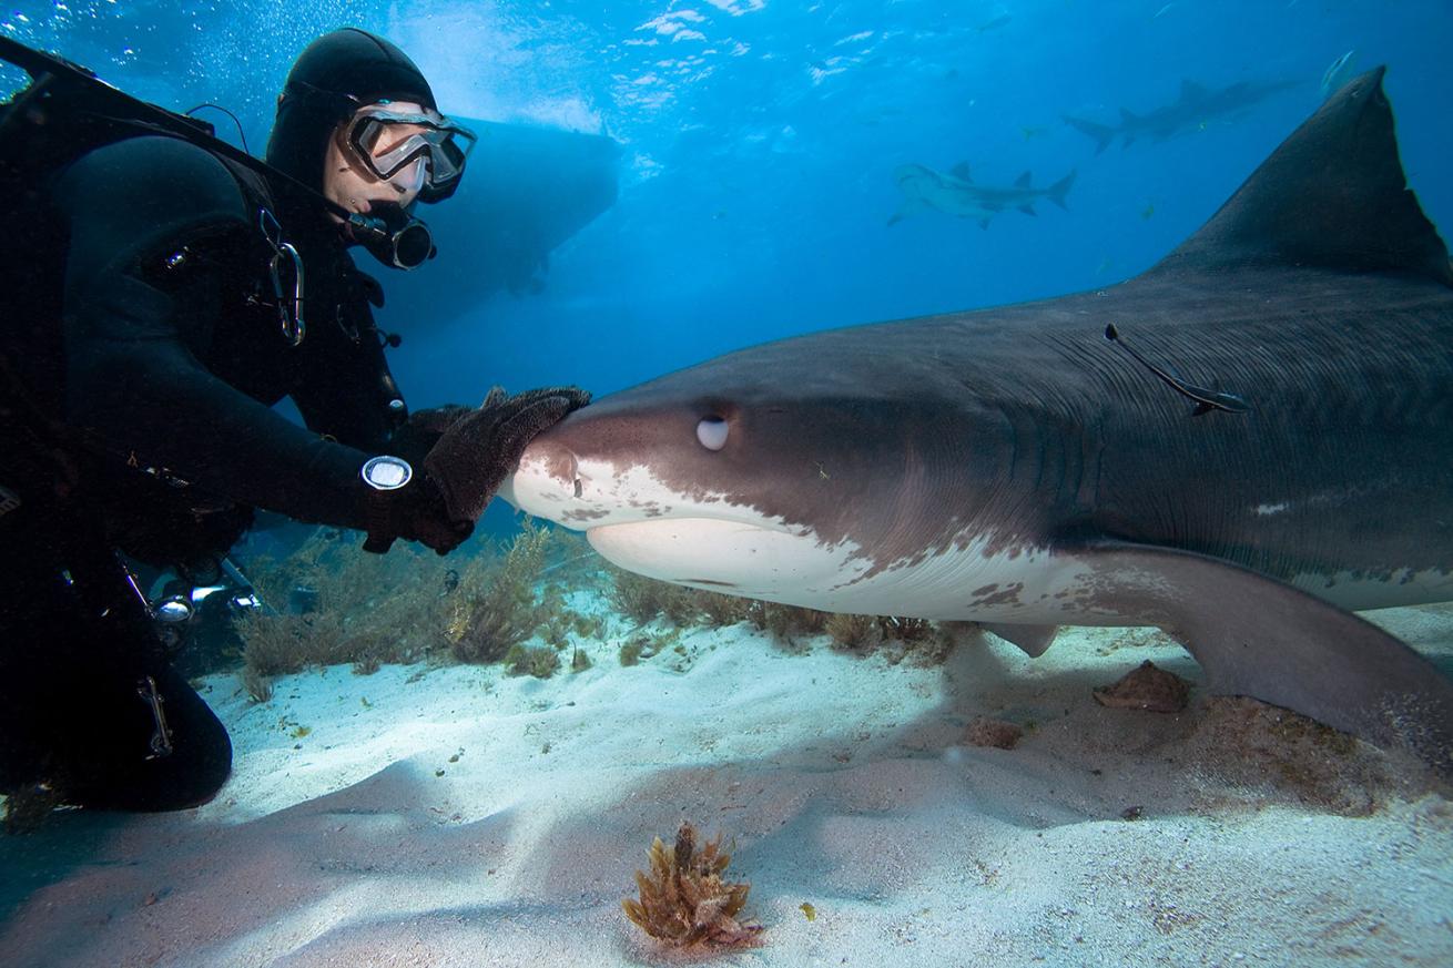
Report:
[[1385,70],[1328,99],[1151,272],[1295,265],[1411,272],[1453,286],[1447,246],[1407,186]]

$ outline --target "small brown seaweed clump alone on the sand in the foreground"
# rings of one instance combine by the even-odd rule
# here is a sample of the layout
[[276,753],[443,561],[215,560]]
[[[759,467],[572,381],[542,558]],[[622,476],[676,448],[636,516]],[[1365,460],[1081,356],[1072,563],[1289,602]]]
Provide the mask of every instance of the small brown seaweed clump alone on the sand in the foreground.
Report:
[[760,924],[742,924],[737,914],[747,904],[750,884],[728,884],[722,872],[731,855],[722,853],[721,834],[700,847],[696,828],[683,823],[676,846],[657,837],[651,844],[651,874],[636,871],[641,900],[620,906],[641,930],[670,948],[742,948],[756,942]]

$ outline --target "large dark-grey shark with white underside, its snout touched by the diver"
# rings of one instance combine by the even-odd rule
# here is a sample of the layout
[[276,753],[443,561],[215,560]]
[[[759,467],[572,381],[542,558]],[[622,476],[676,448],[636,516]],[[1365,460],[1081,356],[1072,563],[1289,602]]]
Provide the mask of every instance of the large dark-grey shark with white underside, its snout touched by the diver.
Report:
[[1353,615],[1453,599],[1453,266],[1382,70],[1149,272],[613,394],[507,483],[610,561],[837,612],[1155,625],[1213,693],[1453,769],[1453,682]]

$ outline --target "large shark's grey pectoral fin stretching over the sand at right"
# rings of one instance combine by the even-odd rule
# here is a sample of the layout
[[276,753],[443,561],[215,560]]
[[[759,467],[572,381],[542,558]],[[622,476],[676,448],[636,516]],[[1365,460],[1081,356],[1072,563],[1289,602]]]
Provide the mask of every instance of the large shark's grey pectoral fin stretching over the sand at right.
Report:
[[1200,663],[1210,692],[1408,749],[1453,775],[1453,680],[1376,625],[1284,581],[1187,551],[1100,542],[1082,561],[1091,608],[1164,628]]

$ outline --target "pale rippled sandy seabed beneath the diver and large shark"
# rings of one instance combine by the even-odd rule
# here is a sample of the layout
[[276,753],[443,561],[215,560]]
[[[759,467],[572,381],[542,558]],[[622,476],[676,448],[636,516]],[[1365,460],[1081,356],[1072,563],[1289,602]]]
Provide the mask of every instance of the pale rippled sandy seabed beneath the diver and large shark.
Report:
[[[1453,664],[1453,610],[1370,618]],[[971,634],[933,667],[680,644],[549,680],[336,667],[260,705],[209,677],[221,795],[0,839],[0,965],[1453,964],[1449,791],[1255,703],[1097,705],[1145,658],[1194,682],[1157,635]],[[981,715],[1026,734],[969,746]],[[756,948],[665,952],[622,914],[683,820],[734,844]]]

